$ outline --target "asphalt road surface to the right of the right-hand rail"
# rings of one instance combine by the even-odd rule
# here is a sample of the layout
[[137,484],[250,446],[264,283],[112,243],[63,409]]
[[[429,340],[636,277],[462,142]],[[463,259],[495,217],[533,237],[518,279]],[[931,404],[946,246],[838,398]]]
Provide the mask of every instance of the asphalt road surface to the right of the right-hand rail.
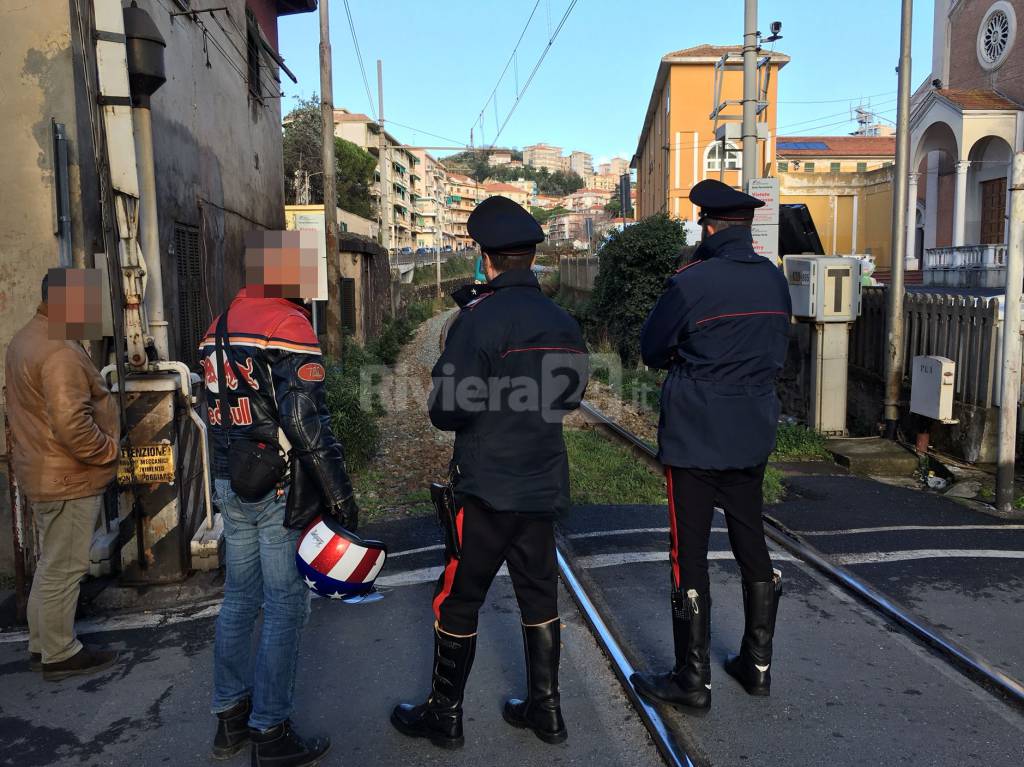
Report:
[[1024,523],[860,477],[793,477],[786,484],[786,502],[770,512],[775,518],[1024,679]]

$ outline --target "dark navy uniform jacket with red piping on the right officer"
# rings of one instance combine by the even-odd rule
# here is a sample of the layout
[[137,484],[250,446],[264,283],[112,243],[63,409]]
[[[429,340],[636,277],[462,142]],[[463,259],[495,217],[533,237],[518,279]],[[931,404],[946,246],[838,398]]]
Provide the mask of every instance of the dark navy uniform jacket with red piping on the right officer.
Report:
[[640,351],[668,370],[658,457],[666,466],[740,469],[768,460],[785,361],[790,290],[733,226],[701,243],[672,276],[644,323]]

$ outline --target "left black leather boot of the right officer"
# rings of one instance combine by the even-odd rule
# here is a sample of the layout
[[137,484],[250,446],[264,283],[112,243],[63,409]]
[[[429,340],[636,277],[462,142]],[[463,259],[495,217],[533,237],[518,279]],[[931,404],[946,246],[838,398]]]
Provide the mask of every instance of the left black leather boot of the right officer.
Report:
[[676,665],[665,674],[634,674],[630,681],[650,701],[673,704],[702,716],[711,709],[711,594],[672,592]]

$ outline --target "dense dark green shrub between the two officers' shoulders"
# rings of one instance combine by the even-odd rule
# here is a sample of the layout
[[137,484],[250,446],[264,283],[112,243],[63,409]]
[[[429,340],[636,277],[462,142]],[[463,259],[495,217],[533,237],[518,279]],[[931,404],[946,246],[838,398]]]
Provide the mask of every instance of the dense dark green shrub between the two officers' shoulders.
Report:
[[640,358],[640,329],[684,245],[682,223],[658,213],[613,232],[599,251],[597,280],[583,318],[604,328],[626,366]]

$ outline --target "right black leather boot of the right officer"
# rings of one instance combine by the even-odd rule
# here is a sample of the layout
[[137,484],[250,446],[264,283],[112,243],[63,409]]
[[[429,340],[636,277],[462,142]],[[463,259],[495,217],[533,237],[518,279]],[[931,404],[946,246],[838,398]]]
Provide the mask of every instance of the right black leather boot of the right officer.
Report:
[[774,570],[771,581],[743,583],[743,639],[739,654],[725,662],[725,670],[751,695],[771,692],[772,637],[782,596],[782,573]]

